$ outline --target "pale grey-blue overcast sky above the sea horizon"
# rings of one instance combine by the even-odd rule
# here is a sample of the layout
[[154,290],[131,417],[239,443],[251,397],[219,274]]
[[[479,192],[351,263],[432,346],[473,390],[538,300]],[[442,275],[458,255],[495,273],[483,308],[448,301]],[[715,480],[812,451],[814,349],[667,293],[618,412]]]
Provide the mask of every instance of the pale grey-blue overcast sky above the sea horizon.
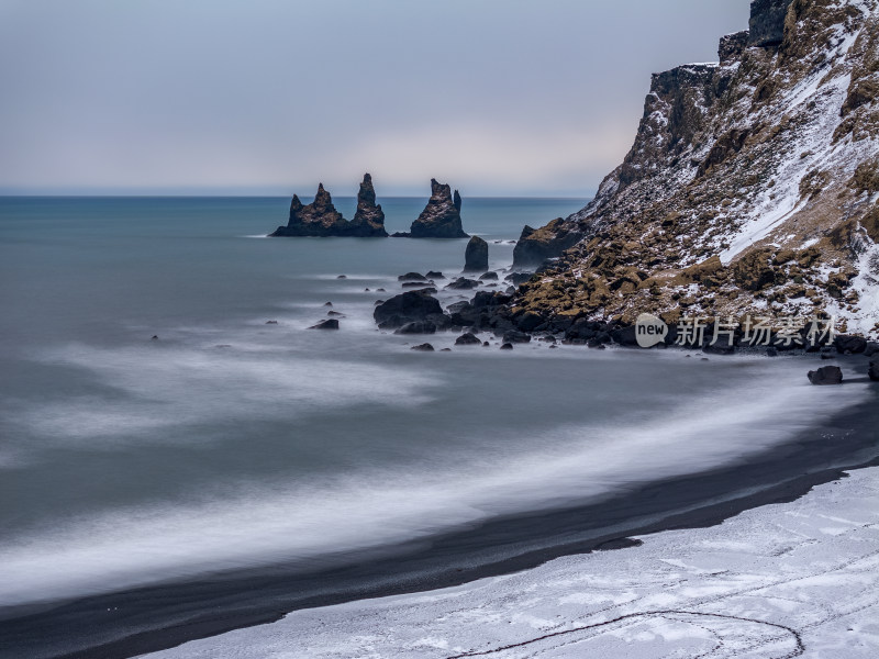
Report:
[[0,193],[589,197],[748,0],[0,0]]

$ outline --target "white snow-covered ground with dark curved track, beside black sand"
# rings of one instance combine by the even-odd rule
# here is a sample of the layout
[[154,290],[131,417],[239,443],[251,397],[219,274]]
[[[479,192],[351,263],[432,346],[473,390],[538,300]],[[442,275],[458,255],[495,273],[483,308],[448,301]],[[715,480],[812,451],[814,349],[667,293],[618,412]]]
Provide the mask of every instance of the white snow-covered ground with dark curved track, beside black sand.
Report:
[[711,528],[298,611],[149,659],[879,657],[879,468]]

